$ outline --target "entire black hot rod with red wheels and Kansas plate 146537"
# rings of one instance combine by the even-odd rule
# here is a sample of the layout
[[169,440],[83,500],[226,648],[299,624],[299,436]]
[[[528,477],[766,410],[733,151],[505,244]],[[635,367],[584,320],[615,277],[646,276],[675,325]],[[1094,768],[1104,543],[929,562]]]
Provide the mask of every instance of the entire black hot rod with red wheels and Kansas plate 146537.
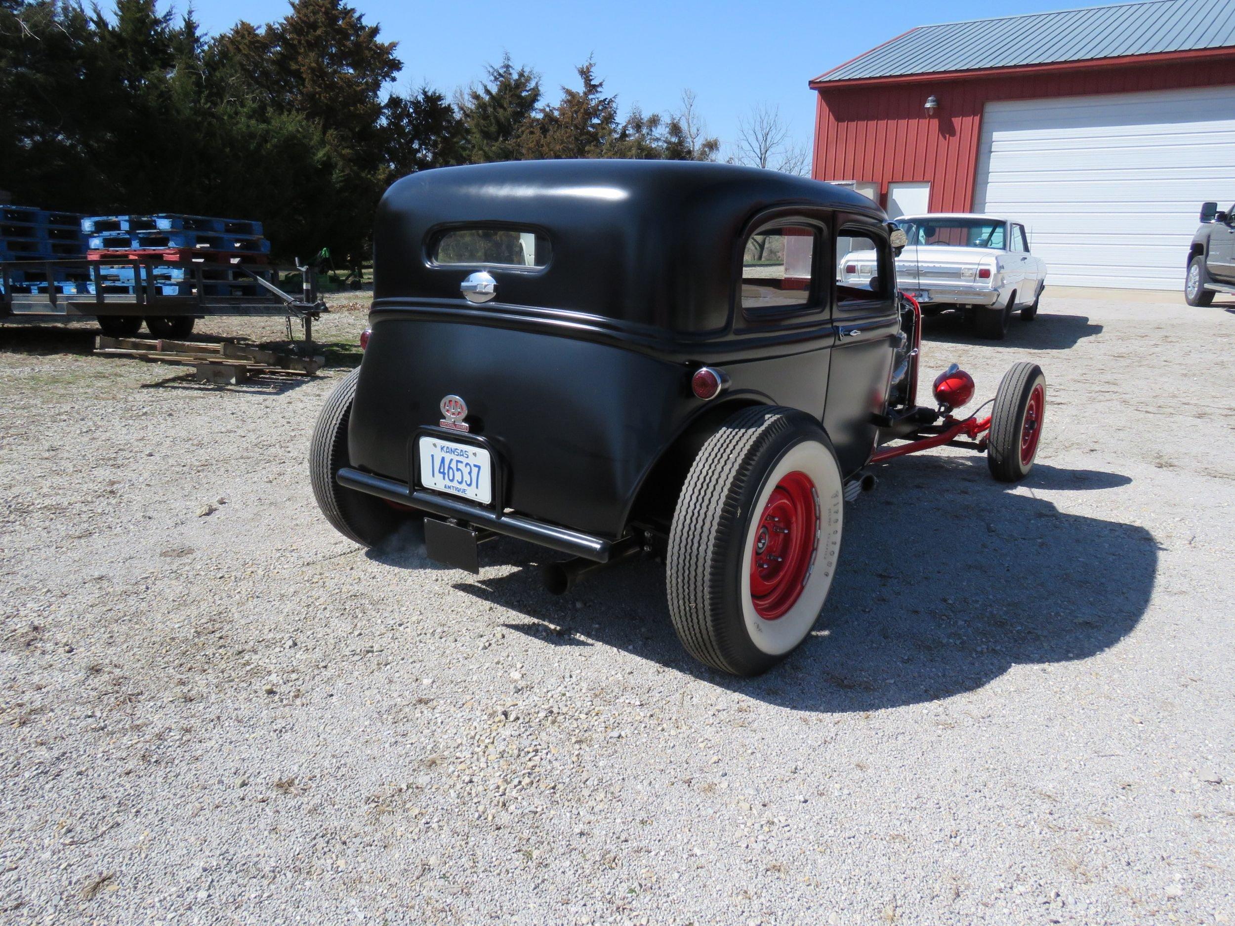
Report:
[[[899,240],[898,240],[899,237]],[[1041,370],[957,417],[955,365],[919,406],[903,232],[865,196],[721,164],[557,161],[395,183],[374,231],[363,362],[312,437],[327,520],[374,546],[424,519],[473,573],[508,535],[599,564],[653,553],[685,648],[753,674],[810,632],[844,501],[872,462],[945,443],[997,479],[1034,462]],[[869,251],[869,278],[837,259]]]

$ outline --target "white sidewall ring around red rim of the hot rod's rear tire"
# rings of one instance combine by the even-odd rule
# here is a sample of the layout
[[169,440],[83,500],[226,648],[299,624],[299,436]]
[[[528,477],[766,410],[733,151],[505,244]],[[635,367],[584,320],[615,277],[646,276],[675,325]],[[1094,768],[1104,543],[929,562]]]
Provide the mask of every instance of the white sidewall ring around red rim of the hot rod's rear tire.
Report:
[[[751,554],[755,551],[758,533],[760,515],[767,506],[777,484],[789,473],[803,472],[810,477],[819,491],[819,549],[815,553],[815,565],[806,579],[802,596],[784,615],[774,621],[760,617],[751,600]],[[827,600],[836,574],[836,559],[841,548],[841,526],[844,520],[845,493],[840,467],[836,457],[818,441],[803,441],[790,447],[772,468],[758,500],[751,509],[751,522],[746,528],[746,542],[742,544],[742,558],[739,561],[742,570],[741,606],[751,643],[768,656],[784,656],[798,646],[810,628]]]

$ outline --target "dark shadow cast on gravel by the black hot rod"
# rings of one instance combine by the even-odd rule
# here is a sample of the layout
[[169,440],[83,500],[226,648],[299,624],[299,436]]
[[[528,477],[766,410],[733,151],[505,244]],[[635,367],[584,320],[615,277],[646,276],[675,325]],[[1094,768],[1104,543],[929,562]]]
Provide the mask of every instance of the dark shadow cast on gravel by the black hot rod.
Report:
[[555,598],[534,565],[545,554],[510,542],[488,562],[524,568],[454,588],[527,619],[508,621],[510,630],[580,647],[547,658],[585,659],[582,647],[601,643],[821,712],[946,699],[1018,664],[1084,659],[1123,640],[1149,606],[1158,558],[1149,531],[1065,514],[1032,494],[1114,489],[1126,477],[1039,465],[1013,491],[990,479],[984,459],[966,457],[906,458],[879,475],[874,493],[846,507],[836,579],[811,638],[760,678],[685,656],[653,562],[603,570]]

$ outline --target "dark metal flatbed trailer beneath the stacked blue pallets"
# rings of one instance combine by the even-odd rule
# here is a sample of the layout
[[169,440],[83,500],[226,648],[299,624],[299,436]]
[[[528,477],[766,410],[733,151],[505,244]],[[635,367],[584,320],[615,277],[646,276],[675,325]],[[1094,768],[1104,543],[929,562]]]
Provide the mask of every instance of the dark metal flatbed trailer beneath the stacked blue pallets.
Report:
[[[291,274],[300,285],[287,291]],[[285,316],[312,322],[326,304],[317,298],[316,274],[308,268],[268,264],[169,261],[159,257],[73,258],[0,262],[0,322],[73,322],[98,320],[107,330],[119,322],[140,327],[151,320],[180,326],[215,316]],[[109,333],[111,333],[109,331]]]

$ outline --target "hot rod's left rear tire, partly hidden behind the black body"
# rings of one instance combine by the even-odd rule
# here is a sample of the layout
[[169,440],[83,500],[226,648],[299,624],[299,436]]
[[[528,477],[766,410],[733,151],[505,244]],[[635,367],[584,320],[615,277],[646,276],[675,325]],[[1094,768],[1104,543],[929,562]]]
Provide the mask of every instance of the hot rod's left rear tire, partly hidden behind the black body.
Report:
[[375,547],[419,515],[396,509],[373,495],[345,489],[335,480],[338,470],[351,462],[347,457],[347,421],[359,374],[359,368],[348,373],[335,386],[326,407],[317,416],[309,444],[309,480],[317,507],[335,530],[361,546]]

